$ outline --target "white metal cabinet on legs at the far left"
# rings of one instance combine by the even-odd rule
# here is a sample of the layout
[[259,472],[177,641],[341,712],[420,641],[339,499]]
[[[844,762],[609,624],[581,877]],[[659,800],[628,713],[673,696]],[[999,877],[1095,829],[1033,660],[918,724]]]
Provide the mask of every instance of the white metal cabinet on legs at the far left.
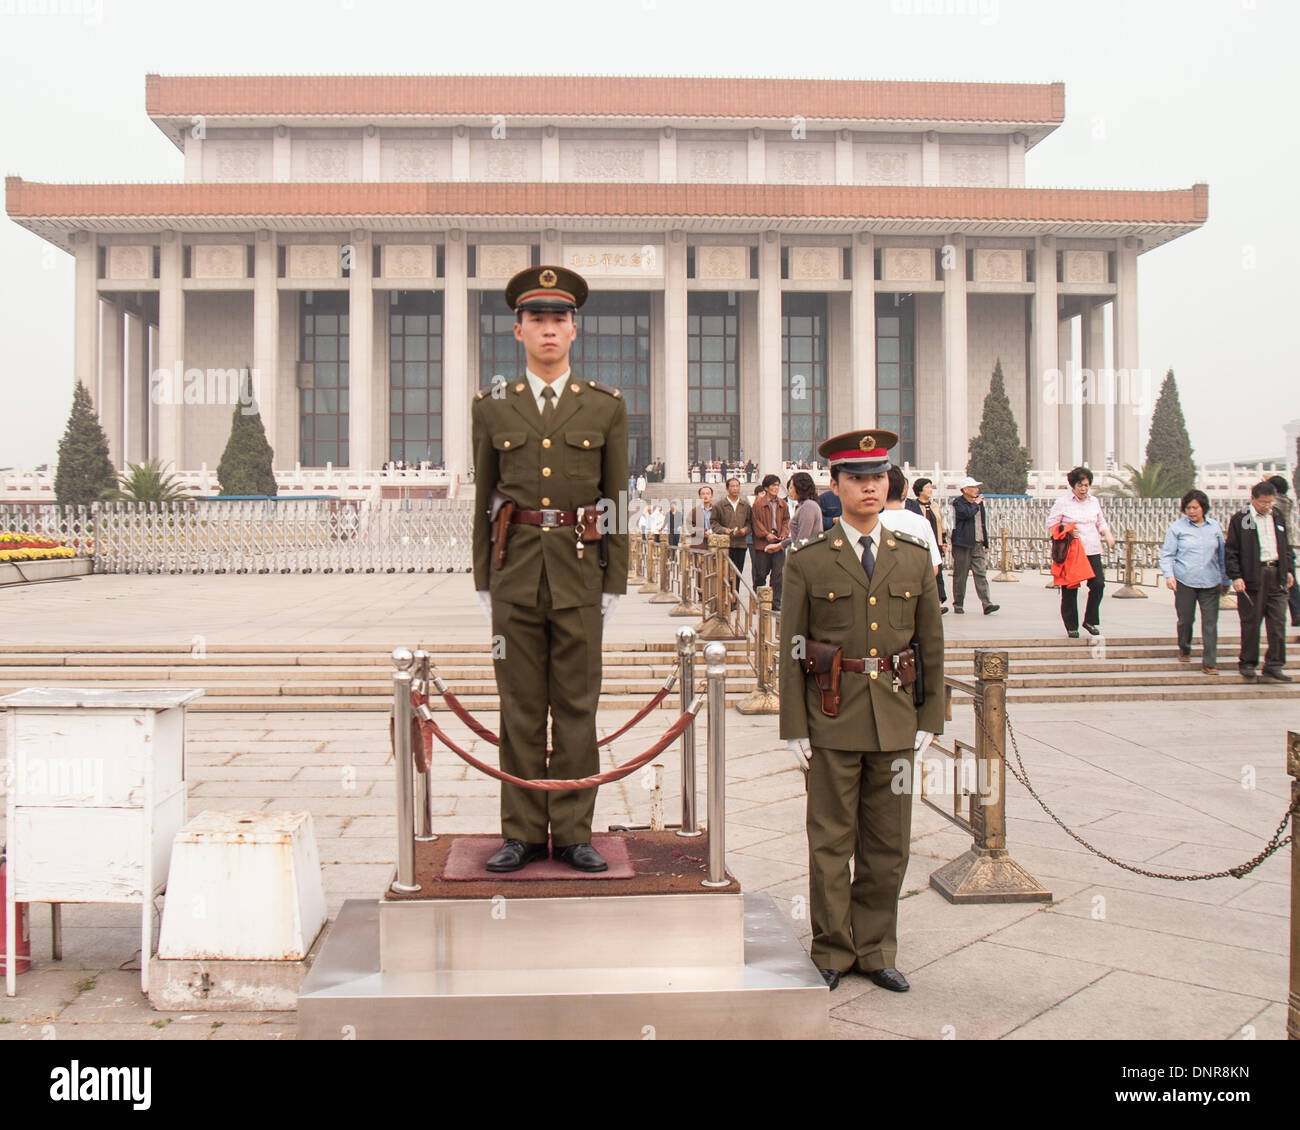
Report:
[[[185,707],[198,689],[36,687],[8,710],[5,992],[14,995],[14,902],[139,902],[148,991],[153,897],[185,824]],[[57,927],[56,927],[57,939]],[[57,953],[56,953],[57,956]]]

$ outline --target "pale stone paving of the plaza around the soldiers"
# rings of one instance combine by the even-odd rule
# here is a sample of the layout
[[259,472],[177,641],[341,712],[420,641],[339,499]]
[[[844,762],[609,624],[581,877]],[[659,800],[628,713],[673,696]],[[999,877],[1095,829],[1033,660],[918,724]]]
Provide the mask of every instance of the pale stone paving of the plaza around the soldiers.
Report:
[[[1056,601],[1037,584],[997,586],[1004,611],[945,616],[959,638],[1043,636]],[[1173,601],[1106,601],[1117,635],[1171,631]],[[1004,596],[1005,594],[1005,596]],[[451,577],[90,577],[0,593],[9,640],[42,642],[311,640],[417,642],[485,632],[469,583]],[[1225,625],[1235,616],[1225,611]],[[680,622],[629,597],[619,637],[667,640]],[[601,715],[604,732],[628,711]],[[1010,720],[1035,787],[1101,850],[1157,871],[1221,870],[1253,856],[1288,797],[1287,728],[1296,702],[1026,703]],[[642,727],[603,765],[645,746]],[[972,718],[950,733],[972,740]],[[703,762],[703,724],[698,727]],[[452,735],[482,754],[462,727]],[[803,779],[771,716],[727,715],[728,865],[746,889],[770,892],[809,940]],[[209,714],[190,719],[188,813],[296,809],[312,814],[329,914],[374,899],[394,860],[387,729],[373,715]],[[663,758],[668,818],[680,796],[676,753]],[[705,810],[703,765],[698,774]],[[1249,787],[1243,787],[1243,783]],[[436,830],[491,831],[495,785],[451,754],[432,772]],[[862,977],[827,997],[835,1039],[1171,1038],[1283,1039],[1290,938],[1290,852],[1244,879],[1171,882],[1122,870],[1086,850],[1008,783],[1009,848],[1050,888],[1050,904],[949,905],[930,874],[970,845],[916,802],[901,902],[898,965],[913,991]],[[937,797],[949,802],[949,797]],[[601,789],[598,828],[644,823],[640,774]],[[87,845],[87,850],[94,850]],[[164,908],[165,900],[160,900]],[[285,1039],[292,1013],[155,1013],[139,993],[135,908],[68,905],[64,960],[49,958],[49,915],[32,908],[34,969],[0,996],[0,1038]]]

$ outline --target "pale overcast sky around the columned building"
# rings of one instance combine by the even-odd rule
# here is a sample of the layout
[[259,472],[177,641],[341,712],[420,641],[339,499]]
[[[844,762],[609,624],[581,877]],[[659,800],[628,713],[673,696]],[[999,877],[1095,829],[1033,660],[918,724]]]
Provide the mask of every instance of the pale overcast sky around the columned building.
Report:
[[[1282,454],[1300,416],[1300,5],[1288,0],[0,0],[0,156],[31,181],[179,181],[161,74],[673,74],[1065,82],[1031,186],[1210,186],[1139,257],[1139,346],[1197,460]],[[72,403],[72,257],[0,222],[0,466],[53,463]],[[1145,446],[1145,440],[1144,440]]]

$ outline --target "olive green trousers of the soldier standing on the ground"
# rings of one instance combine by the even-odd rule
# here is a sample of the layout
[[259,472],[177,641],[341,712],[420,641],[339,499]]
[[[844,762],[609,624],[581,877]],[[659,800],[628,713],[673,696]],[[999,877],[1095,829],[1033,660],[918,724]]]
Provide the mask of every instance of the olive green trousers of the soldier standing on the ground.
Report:
[[[809,909],[818,969],[890,969],[911,844],[911,792],[890,784],[914,753],[812,748],[807,775]],[[853,878],[849,878],[849,860]]]

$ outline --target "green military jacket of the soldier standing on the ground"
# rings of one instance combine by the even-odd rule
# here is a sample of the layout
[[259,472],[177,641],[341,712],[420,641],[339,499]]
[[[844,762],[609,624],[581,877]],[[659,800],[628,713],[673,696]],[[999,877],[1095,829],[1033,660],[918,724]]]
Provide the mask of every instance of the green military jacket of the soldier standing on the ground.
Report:
[[[930,547],[920,538],[883,531],[870,581],[837,521],[790,547],[781,596],[781,737],[848,750],[911,749],[918,729],[944,729],[944,627]],[[894,690],[893,676],[845,671],[840,713],[822,713],[816,681],[800,667],[802,640],[835,644],[845,658],[887,658],[920,642],[926,702]]]

